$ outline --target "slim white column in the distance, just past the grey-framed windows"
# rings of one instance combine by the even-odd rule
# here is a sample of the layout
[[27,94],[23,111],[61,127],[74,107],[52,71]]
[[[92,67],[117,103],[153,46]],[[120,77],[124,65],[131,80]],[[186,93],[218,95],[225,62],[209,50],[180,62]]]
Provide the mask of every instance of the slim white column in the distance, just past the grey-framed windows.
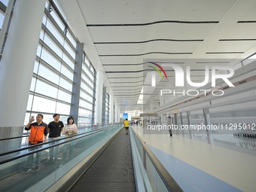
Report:
[[95,123],[96,124],[102,124],[102,89],[103,89],[103,72],[97,72],[96,103],[95,103]]

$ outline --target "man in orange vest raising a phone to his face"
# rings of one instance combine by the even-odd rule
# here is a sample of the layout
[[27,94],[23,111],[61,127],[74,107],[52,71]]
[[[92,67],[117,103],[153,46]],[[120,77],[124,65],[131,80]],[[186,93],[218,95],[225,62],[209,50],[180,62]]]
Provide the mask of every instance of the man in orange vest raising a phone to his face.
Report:
[[[29,120],[29,123],[26,124],[25,130],[30,130],[29,135],[29,146],[35,145],[34,148],[29,148],[29,151],[41,148],[42,145],[36,146],[37,144],[40,144],[42,142],[47,141],[47,123],[43,122],[44,116],[42,114],[38,114],[36,116],[36,122],[32,123],[35,119],[34,116]],[[36,153],[35,157],[35,170],[39,171],[40,166],[40,158],[41,158],[41,151]],[[26,161],[26,168],[23,170],[23,172],[29,172],[32,167],[32,163],[34,160],[34,154],[30,154],[27,161]]]

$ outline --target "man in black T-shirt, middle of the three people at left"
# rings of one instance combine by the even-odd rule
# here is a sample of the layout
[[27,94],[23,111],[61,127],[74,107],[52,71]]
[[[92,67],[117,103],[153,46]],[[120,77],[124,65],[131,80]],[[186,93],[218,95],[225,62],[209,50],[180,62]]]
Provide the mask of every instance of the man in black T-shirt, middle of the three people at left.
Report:
[[[54,120],[48,124],[48,141],[54,141],[56,139],[60,139],[60,134],[64,127],[62,121],[59,120],[59,114],[53,114]],[[51,145],[56,142],[52,142]],[[57,160],[59,147],[50,148],[50,161]],[[55,159],[53,159],[55,158]]]

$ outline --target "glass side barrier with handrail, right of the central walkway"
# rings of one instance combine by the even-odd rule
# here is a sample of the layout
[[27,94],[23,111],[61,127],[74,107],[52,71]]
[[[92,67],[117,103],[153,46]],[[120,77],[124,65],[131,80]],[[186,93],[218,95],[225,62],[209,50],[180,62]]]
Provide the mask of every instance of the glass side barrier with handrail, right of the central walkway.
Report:
[[137,133],[130,129],[138,191],[183,191]]

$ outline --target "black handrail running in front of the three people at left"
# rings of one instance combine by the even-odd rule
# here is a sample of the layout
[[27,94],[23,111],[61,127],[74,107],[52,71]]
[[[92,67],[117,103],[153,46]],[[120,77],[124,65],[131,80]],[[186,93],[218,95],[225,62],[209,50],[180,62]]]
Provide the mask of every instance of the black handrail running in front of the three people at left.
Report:
[[[16,152],[23,151],[23,150],[26,150],[26,149],[29,149],[29,148],[35,148],[35,146],[46,145],[46,144],[49,144],[49,143],[51,143],[51,142],[58,142],[58,141],[60,141],[60,140],[67,139],[67,141],[65,141],[65,142],[59,142],[59,143],[56,143],[56,144],[53,144],[53,145],[49,145],[49,146],[44,147],[44,148],[34,149],[34,150],[32,150],[32,151],[26,152],[25,154],[19,154],[19,155],[14,156],[14,157],[9,157],[7,160],[2,160],[2,161],[0,161],[0,165],[3,164],[3,163],[8,163],[8,162],[10,162],[10,161],[12,161],[12,160],[20,159],[21,157],[26,157],[26,156],[28,156],[29,154],[34,154],[34,153],[39,152],[39,151],[44,151],[45,149],[53,148],[53,147],[56,147],[56,146],[58,146],[58,145],[62,145],[62,144],[64,144],[64,143],[72,142],[72,141],[75,141],[75,140],[77,140],[77,139],[81,139],[81,138],[84,138],[84,137],[86,137],[86,136],[90,136],[90,135],[93,135],[93,134],[95,134],[95,133],[99,133],[99,132],[102,132],[102,131],[105,131],[105,130],[109,130],[109,129],[111,129],[110,126],[106,127],[105,129],[93,130],[93,131],[90,131],[90,132],[80,133],[80,134],[75,135],[75,136],[70,136],[69,138],[63,137],[63,138],[61,138],[61,139],[56,139],[56,140],[54,140],[54,141],[42,142],[42,143],[39,143],[39,144],[37,144],[37,145],[30,145],[30,146],[28,146],[28,147],[26,147],[26,148],[19,148],[19,149],[13,150],[13,151],[8,151],[8,152],[5,152],[5,153],[0,154],[0,156],[7,155],[7,154],[12,154],[12,153],[16,153]],[[81,136],[81,135],[84,135],[84,134],[86,134],[86,135],[85,135],[85,136]],[[78,136],[80,136],[80,137],[78,137]],[[75,139],[71,139],[72,137],[76,137],[76,138],[75,138]]]

